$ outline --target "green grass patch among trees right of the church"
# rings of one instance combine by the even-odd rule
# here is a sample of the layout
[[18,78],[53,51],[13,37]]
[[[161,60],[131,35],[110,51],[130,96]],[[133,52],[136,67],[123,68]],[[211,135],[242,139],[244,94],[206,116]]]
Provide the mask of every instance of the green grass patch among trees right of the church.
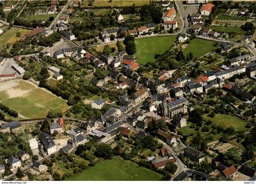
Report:
[[210,120],[213,123],[222,126],[224,129],[232,126],[235,128],[235,131],[246,130],[246,121],[243,121],[243,119],[240,119],[236,116],[218,114],[215,115],[214,118],[211,118],[207,115],[204,115],[203,117],[205,120]]

